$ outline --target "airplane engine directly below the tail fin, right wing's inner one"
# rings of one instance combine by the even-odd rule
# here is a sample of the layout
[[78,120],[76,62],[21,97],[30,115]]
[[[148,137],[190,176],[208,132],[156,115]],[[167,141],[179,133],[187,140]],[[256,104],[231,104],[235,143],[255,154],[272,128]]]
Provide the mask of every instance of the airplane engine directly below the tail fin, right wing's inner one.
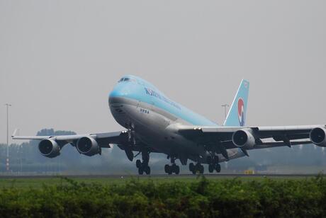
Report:
[[253,149],[256,140],[250,130],[237,130],[232,135],[232,142],[242,149]]

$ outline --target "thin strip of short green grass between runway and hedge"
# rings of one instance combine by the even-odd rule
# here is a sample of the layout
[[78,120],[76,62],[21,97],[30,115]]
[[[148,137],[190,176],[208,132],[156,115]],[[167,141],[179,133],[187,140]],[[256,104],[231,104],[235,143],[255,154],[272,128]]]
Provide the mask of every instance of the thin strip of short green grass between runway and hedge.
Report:
[[[305,180],[313,178],[314,176],[212,176],[206,175],[205,178],[211,181],[218,180],[242,180],[242,181],[262,181],[266,178],[271,178],[273,180]],[[1,178],[0,177],[0,188],[42,188],[44,185],[67,185],[67,180],[69,178],[78,183],[97,183],[101,185],[111,185],[111,184],[123,184],[129,182],[130,180],[139,181],[153,181],[154,183],[174,183],[174,182],[185,182],[191,183],[196,182],[201,179],[201,176],[192,175],[182,175],[182,176],[35,176],[31,178],[26,177],[11,177],[11,178]]]

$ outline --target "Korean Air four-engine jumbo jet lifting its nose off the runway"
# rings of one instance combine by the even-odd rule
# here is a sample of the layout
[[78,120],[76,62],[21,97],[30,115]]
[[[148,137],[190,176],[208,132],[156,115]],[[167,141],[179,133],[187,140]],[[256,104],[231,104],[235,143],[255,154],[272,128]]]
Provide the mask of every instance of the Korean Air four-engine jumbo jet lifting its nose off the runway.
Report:
[[223,125],[198,115],[159,91],[150,82],[137,76],[123,76],[108,96],[108,106],[116,122],[125,130],[94,134],[62,136],[18,136],[13,139],[40,140],[40,154],[48,158],[60,155],[65,144],[76,147],[80,154],[94,156],[101,149],[116,145],[130,161],[135,161],[138,173],[150,174],[150,154],[166,154],[171,164],[165,173],[179,174],[176,164],[189,164],[191,173],[221,170],[220,163],[249,156],[252,149],[291,147],[315,144],[326,147],[326,125],[245,126],[249,81],[243,79]]

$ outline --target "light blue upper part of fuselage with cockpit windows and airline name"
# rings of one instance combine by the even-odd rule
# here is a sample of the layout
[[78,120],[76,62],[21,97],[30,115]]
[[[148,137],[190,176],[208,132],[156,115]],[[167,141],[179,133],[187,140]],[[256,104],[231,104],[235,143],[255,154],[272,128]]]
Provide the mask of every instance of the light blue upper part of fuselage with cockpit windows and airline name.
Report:
[[169,100],[155,86],[137,76],[123,76],[110,93],[109,98],[111,97],[130,98],[154,105],[154,107],[160,108],[192,125],[218,126],[218,124],[208,120],[206,117],[198,115],[179,103]]

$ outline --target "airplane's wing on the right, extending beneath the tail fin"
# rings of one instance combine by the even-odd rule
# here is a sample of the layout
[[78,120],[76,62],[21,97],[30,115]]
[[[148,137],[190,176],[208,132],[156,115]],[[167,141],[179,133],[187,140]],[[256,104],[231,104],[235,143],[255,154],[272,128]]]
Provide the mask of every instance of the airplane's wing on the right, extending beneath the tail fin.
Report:
[[[213,145],[225,153],[225,149],[241,148],[247,155],[249,149],[263,149],[297,144],[313,144],[310,132],[315,129],[325,130],[326,125],[273,126],[273,127],[193,127],[181,126],[178,132],[198,144]],[[247,134],[254,143],[238,146],[233,137],[236,132]]]

